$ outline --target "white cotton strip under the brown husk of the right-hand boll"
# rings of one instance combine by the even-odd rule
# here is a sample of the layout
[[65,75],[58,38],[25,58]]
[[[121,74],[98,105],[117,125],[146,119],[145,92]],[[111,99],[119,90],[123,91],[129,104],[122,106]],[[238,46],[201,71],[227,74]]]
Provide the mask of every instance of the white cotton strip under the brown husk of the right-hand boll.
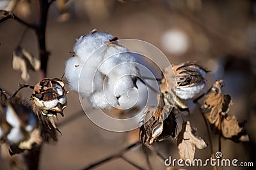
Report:
[[175,92],[180,99],[192,99],[195,97],[196,94],[198,94],[202,89],[204,89],[205,83],[204,81],[193,85],[191,87],[177,87],[175,89]]

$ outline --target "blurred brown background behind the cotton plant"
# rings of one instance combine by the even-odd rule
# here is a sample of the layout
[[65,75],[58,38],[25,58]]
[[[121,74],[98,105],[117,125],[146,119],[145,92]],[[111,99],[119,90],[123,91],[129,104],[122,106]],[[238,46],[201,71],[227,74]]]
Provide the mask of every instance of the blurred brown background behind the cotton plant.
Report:
[[[33,23],[34,7],[33,1],[20,0],[14,13]],[[207,87],[217,78],[222,78],[225,81],[224,92],[232,96],[234,103],[229,113],[236,115],[241,122],[247,120],[246,130],[250,136],[248,143],[236,144],[223,139],[223,157],[253,162],[256,166],[256,1],[70,0],[65,6],[52,3],[48,17],[46,45],[51,52],[48,76],[60,78],[76,38],[97,28],[119,39],[133,38],[152,43],[172,64],[188,60],[198,62],[211,71],[207,76]],[[0,24],[0,87],[6,92],[12,93],[19,83],[24,83],[20,73],[12,69],[12,52],[25,29],[14,20]],[[20,45],[38,57],[33,31],[26,32]],[[29,84],[35,85],[37,81],[38,73],[31,73]],[[29,89],[20,92],[20,96],[27,100],[30,94]],[[197,134],[209,143],[198,107],[191,101],[188,104],[191,115],[185,118],[191,120]],[[90,122],[83,113],[76,92],[68,94],[68,107],[64,114],[65,117],[59,118],[62,135],[58,142],[42,146],[39,169],[82,169],[138,140],[138,131],[109,132]],[[218,138],[214,134],[212,138],[214,151],[217,151]],[[166,158],[171,155],[173,159],[179,159],[175,139],[156,143],[154,147]],[[210,153],[209,147],[196,150],[195,157],[207,159]],[[156,155],[149,155],[154,169],[166,169]],[[148,169],[145,154],[140,148],[131,150],[125,157]],[[8,169],[8,162],[3,158],[0,159],[0,169]],[[116,159],[95,169],[136,168]]]

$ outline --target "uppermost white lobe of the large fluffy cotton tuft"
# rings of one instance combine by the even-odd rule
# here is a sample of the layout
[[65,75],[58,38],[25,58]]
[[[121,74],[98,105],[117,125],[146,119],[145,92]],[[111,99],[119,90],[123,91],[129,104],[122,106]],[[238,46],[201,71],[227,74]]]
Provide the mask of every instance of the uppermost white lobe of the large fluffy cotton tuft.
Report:
[[94,50],[97,50],[100,46],[108,43],[111,38],[113,38],[113,36],[106,32],[87,34],[86,36],[81,36],[77,39],[73,50],[78,57],[86,60]]

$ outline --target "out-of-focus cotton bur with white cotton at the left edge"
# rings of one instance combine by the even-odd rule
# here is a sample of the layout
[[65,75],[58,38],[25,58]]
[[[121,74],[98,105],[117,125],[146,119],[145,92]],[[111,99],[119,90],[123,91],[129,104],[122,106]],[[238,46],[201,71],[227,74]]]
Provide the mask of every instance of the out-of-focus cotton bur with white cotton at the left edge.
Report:
[[30,150],[42,142],[41,129],[35,113],[1,91],[0,139],[10,145],[10,155]]

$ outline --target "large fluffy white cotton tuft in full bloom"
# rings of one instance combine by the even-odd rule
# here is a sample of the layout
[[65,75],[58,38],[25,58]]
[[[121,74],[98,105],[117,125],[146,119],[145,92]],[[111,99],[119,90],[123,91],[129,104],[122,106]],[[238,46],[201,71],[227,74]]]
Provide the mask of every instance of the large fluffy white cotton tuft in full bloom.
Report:
[[106,32],[81,36],[73,47],[74,57],[66,63],[70,90],[87,97],[93,108],[117,106],[118,98],[127,95],[139,76],[132,53],[111,43],[112,38]]

